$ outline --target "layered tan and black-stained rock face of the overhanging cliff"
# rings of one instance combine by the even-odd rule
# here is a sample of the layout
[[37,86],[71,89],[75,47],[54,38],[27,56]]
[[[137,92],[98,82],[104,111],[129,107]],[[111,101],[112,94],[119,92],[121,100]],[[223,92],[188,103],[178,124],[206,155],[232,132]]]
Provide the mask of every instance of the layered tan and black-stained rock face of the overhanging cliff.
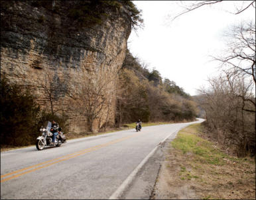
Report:
[[[124,7],[118,13],[106,10],[101,24],[80,26],[79,20],[70,17],[70,9],[79,7],[80,1],[47,1],[44,5],[33,2],[1,1],[1,75],[31,88],[42,109],[48,112],[50,102],[44,86],[51,77],[52,81],[59,81],[62,90],[54,91],[54,112],[68,114],[70,131],[88,131],[86,117],[70,110],[79,93],[76,90],[84,81],[80,75],[87,73],[90,77],[105,69],[107,77],[115,77],[131,32],[129,15]],[[115,81],[111,84],[115,87]],[[111,100],[110,123],[114,120],[114,96],[115,92],[107,96]],[[95,129],[106,121],[105,109],[100,116]]]

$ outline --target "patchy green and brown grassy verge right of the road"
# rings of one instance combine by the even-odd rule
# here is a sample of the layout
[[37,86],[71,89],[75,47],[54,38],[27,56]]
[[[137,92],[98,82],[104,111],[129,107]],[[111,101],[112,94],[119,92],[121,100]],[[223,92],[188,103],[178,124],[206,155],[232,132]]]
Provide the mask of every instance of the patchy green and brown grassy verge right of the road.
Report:
[[200,129],[182,129],[167,147],[156,198],[168,189],[168,199],[255,199],[255,160],[225,154]]

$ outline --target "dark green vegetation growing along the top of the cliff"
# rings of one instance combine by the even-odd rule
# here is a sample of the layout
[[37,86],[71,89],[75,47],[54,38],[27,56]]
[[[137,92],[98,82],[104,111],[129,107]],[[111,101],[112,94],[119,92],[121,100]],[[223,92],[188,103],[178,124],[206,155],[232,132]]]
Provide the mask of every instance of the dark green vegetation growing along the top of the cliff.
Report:
[[[126,9],[127,15],[131,20],[131,26],[137,29],[143,23],[141,11],[135,7],[132,1],[102,1],[102,0],[87,0],[87,1],[70,1],[70,7],[63,7],[61,1],[46,0],[46,1],[31,1],[33,7],[44,7],[52,9],[55,13],[61,13],[62,9],[68,9],[67,13],[70,18],[73,18],[80,26],[90,27],[95,24],[102,24],[106,17],[111,15],[119,15],[122,9]],[[41,17],[39,22],[43,22]]]

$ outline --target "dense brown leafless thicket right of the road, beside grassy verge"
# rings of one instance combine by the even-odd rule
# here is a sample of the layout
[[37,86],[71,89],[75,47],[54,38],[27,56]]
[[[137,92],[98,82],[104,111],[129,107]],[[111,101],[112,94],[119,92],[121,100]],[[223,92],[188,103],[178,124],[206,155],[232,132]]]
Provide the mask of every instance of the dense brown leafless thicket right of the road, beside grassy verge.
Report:
[[[210,133],[219,143],[232,147],[238,156],[255,149],[255,110],[243,98],[253,98],[253,81],[230,73],[209,79],[210,88],[202,88],[201,106],[206,111]],[[240,98],[243,96],[243,98]],[[254,100],[255,103],[255,100]]]

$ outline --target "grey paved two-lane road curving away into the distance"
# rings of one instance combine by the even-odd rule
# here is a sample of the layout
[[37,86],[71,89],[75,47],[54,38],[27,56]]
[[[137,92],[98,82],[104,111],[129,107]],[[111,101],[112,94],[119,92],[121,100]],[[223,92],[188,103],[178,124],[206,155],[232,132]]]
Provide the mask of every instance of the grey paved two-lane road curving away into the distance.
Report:
[[1,152],[1,199],[108,199],[163,139],[189,124],[73,139],[41,151]]

